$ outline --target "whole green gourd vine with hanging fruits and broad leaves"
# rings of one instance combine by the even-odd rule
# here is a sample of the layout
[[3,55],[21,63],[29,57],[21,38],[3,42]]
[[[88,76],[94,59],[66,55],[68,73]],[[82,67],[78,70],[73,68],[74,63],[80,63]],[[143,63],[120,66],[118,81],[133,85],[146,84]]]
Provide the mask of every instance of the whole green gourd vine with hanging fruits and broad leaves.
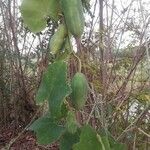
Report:
[[[87,7],[88,6],[88,7]],[[84,11],[88,10],[87,0],[23,0],[20,11],[25,26],[33,33],[44,30],[47,19],[59,23],[57,31],[50,40],[50,52],[62,55],[49,64],[43,74],[36,94],[36,102],[47,101],[49,110],[45,116],[37,119],[29,127],[36,133],[39,144],[51,144],[59,141],[60,150],[123,150],[123,144],[117,143],[111,136],[93,129],[90,125],[80,125],[76,112],[85,106],[88,94],[88,82],[81,73],[81,61],[73,51],[71,36],[76,39],[81,51],[80,37],[84,30]],[[67,57],[71,54],[78,61],[78,72],[67,78]],[[67,56],[67,57],[66,57]]]

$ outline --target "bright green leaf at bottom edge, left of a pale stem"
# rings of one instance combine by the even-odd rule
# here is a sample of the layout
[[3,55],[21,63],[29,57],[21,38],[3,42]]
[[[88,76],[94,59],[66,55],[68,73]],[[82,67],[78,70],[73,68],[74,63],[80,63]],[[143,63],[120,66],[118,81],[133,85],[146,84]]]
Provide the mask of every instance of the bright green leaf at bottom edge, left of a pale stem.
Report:
[[80,142],[73,145],[73,150],[104,150],[99,138],[92,127],[85,125],[81,131]]

